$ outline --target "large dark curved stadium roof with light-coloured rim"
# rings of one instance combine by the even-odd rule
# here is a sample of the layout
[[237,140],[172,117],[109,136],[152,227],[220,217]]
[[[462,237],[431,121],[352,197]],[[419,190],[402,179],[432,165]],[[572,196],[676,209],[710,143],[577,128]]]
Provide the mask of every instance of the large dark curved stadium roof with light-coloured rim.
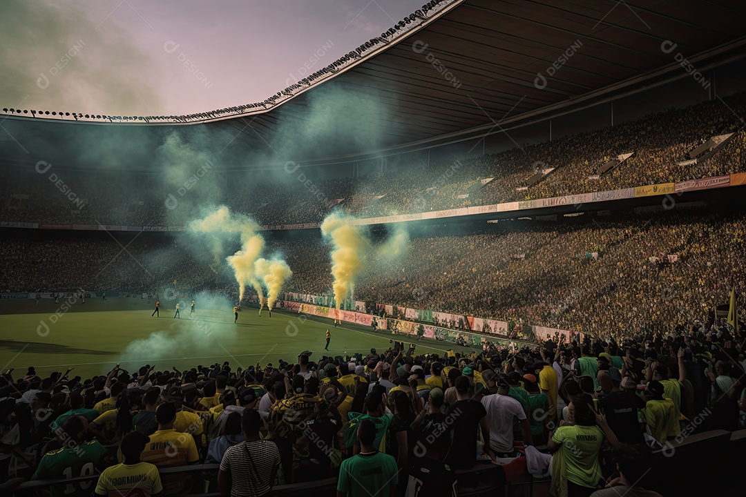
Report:
[[746,54],[742,0],[455,0],[428,7],[399,31],[372,39],[359,57],[244,107],[240,117],[231,111],[149,121],[218,121],[209,125],[236,128],[251,149],[273,148],[286,139],[286,125],[313,125],[323,102],[356,95],[380,109],[357,116],[377,136],[376,150],[340,143],[333,156],[297,159],[362,158],[499,133]]

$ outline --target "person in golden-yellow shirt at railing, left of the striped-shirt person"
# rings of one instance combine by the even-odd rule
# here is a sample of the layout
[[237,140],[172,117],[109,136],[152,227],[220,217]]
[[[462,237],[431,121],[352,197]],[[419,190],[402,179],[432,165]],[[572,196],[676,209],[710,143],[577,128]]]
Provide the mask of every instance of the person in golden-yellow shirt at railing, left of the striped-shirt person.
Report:
[[[150,441],[140,456],[146,463],[153,463],[159,468],[185,466],[199,462],[199,453],[195,439],[189,433],[179,433],[174,429],[176,407],[170,402],[159,405],[155,411],[158,429],[151,434]],[[123,454],[122,454],[123,455]],[[181,493],[187,487],[188,476],[184,474],[164,475],[164,495],[172,496]]]

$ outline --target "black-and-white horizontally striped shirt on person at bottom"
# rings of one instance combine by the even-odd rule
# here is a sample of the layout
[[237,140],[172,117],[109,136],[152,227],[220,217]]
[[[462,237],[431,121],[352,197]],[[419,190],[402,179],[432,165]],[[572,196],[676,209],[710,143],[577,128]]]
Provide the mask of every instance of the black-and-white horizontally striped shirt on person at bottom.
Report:
[[275,443],[252,440],[229,447],[220,470],[231,474],[231,497],[259,497],[269,492],[272,468],[279,464]]

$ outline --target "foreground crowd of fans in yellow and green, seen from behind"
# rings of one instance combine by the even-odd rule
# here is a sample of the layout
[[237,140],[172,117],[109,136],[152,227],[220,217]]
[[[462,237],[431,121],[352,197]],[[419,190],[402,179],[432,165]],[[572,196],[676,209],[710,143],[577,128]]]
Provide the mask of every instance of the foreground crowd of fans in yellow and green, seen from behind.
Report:
[[[395,342],[365,357],[304,351],[245,370],[117,365],[90,379],[7,370],[0,490],[93,475],[52,495],[263,496],[336,477],[351,497],[416,487],[451,496],[471,478],[461,471],[524,457],[535,476],[551,466],[557,496],[630,487],[656,496],[640,488],[662,485],[643,478],[652,451],[682,433],[744,428],[745,342],[715,321],[619,342],[557,337],[443,357]],[[160,473],[198,462],[219,469]]]

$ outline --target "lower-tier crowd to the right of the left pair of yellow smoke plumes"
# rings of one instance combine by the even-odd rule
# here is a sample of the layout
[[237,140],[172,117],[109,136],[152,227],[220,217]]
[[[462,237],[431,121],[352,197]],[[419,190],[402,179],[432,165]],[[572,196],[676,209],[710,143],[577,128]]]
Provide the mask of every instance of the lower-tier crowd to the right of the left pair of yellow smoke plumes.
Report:
[[[692,316],[704,322],[732,288],[744,294],[745,235],[741,216],[693,216],[502,224],[413,238],[399,261],[366,259],[355,298],[620,339],[668,331]],[[294,271],[289,290],[327,294],[325,246],[283,247]],[[659,254],[679,258],[651,262]]]

